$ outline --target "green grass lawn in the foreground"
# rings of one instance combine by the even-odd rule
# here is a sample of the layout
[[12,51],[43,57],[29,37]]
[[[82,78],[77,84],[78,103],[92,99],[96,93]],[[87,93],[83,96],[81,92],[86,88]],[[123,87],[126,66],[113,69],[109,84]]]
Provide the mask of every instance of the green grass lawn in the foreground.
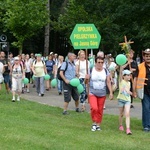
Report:
[[133,135],[118,131],[118,116],[104,115],[102,131],[91,132],[88,113],[70,111],[27,100],[11,102],[0,95],[0,150],[149,150],[150,133],[141,120],[131,119]]

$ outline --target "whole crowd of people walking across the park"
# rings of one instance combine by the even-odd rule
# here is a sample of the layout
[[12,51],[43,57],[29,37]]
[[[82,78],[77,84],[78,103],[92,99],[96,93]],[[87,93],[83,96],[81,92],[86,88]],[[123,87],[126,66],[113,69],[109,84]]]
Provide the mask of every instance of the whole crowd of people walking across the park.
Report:
[[[30,92],[31,83],[35,87],[37,95],[44,96],[45,90],[50,91],[51,81],[57,79],[57,90],[59,95],[64,95],[63,115],[67,111],[71,97],[75,101],[75,111],[86,110],[86,102],[89,102],[91,110],[91,131],[101,130],[103,110],[106,95],[109,93],[110,100],[118,89],[119,127],[124,131],[123,115],[126,118],[126,134],[131,135],[130,108],[134,108],[133,98],[137,96],[142,99],[142,124],[145,132],[150,131],[150,49],[143,51],[141,62],[139,56],[136,61],[134,51],[130,50],[126,55],[127,62],[118,66],[111,54],[104,55],[99,51],[96,56],[86,59],[85,51],[80,50],[76,56],[69,52],[66,58],[50,52],[47,57],[41,54],[21,54],[13,57],[12,53],[6,57],[0,52],[0,90],[4,82],[7,93],[12,92],[12,102],[20,101],[21,93]],[[90,61],[90,59],[93,61]],[[93,64],[91,65],[91,62]],[[58,69],[62,80],[58,79]],[[50,79],[44,80],[46,74]],[[24,84],[24,78],[29,83]],[[83,86],[82,93],[78,93],[77,87],[70,84],[74,78],[79,78]],[[16,99],[17,96],[17,99]],[[80,104],[81,103],[81,109]]]

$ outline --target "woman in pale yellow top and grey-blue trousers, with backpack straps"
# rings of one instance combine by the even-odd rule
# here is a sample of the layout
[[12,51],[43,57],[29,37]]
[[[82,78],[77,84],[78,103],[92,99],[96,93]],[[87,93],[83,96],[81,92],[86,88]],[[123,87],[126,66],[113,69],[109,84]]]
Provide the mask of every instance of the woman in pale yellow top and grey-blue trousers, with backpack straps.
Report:
[[36,55],[36,60],[33,62],[32,71],[35,78],[36,91],[39,96],[44,96],[44,76],[47,74],[45,62],[41,60],[41,54]]

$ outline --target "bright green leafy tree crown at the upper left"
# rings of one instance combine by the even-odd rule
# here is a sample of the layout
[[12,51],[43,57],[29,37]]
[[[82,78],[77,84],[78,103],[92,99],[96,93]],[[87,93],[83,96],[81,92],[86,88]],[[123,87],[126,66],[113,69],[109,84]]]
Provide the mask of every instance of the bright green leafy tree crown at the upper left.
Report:
[[7,0],[4,23],[17,42],[13,45],[22,52],[23,42],[48,23],[47,0]]

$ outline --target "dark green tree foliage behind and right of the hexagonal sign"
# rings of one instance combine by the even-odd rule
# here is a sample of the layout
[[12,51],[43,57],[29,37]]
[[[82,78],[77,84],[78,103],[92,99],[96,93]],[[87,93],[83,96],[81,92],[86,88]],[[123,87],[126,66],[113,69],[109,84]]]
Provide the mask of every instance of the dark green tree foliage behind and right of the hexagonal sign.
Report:
[[102,36],[100,49],[119,52],[119,43],[126,35],[135,41],[133,48],[140,51],[149,46],[149,9],[148,0],[69,0],[53,26],[69,39],[75,24],[94,23]]

